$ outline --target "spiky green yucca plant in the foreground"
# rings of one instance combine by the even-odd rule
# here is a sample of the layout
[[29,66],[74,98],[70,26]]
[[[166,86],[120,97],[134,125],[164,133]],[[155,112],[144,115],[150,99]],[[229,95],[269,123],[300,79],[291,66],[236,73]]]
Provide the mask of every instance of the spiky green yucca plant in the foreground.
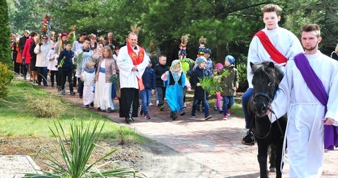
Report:
[[74,121],[74,124],[70,124],[70,139],[66,137],[65,130],[61,126],[61,123],[54,121],[55,130],[52,131],[52,135],[57,139],[57,146],[60,148],[60,155],[62,161],[59,161],[48,152],[48,150],[40,149],[37,155],[42,155],[48,161],[43,161],[43,164],[46,164],[50,167],[51,172],[40,170],[43,172],[43,175],[28,173],[25,175],[25,178],[33,177],[53,177],[53,178],[81,178],[81,177],[123,177],[123,175],[132,175],[132,177],[139,177],[136,175],[138,171],[133,170],[132,168],[119,168],[112,170],[103,170],[100,171],[99,168],[106,164],[114,163],[116,161],[111,161],[106,164],[97,166],[99,161],[109,157],[117,149],[108,152],[107,155],[104,155],[94,163],[88,163],[92,151],[97,145],[97,141],[103,129],[104,123],[101,128],[99,128],[99,120],[95,122],[92,130],[90,130],[90,123],[88,126],[85,126],[83,121],[81,124],[77,124],[77,121]]

